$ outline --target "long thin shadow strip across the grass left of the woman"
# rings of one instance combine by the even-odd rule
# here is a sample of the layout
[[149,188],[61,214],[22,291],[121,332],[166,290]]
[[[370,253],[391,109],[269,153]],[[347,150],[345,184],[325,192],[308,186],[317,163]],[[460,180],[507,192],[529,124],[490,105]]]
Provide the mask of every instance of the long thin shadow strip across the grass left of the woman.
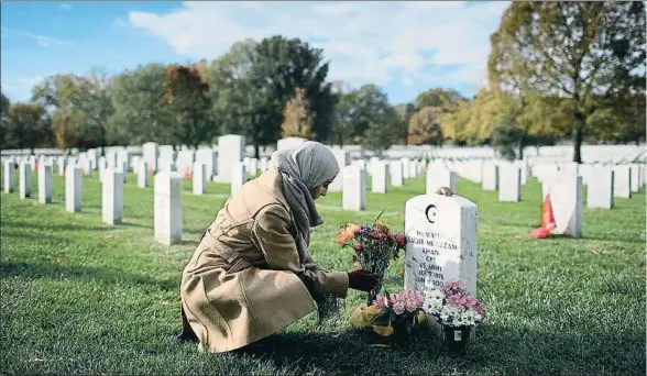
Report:
[[87,279],[105,283],[125,281],[133,285],[149,285],[162,290],[179,288],[179,280],[156,279],[118,269],[103,269],[90,266],[67,266],[55,264],[31,264],[23,262],[7,262],[0,264],[2,278],[20,277],[24,279]]

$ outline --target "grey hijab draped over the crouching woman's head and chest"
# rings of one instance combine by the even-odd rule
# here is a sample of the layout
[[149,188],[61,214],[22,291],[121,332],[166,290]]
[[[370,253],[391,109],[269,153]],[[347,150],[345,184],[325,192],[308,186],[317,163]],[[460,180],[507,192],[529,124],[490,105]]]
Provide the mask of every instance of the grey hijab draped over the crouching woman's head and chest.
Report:
[[328,146],[314,141],[274,152],[272,162],[281,173],[283,192],[296,222],[299,262],[308,266],[314,263],[308,251],[310,228],[324,223],[308,189],[335,178],[339,165]]

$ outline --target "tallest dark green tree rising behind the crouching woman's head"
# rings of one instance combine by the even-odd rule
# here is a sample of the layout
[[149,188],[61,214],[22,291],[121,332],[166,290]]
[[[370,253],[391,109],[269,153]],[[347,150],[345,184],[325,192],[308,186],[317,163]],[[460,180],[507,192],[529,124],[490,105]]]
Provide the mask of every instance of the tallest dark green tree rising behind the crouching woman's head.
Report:
[[322,51],[311,48],[298,38],[283,36],[264,38],[249,56],[250,65],[243,73],[223,85],[221,110],[228,119],[239,118],[240,131],[259,147],[275,143],[281,137],[283,109],[295,89],[305,90],[312,113],[312,137],[325,141],[333,115],[331,84],[326,82],[328,63]]

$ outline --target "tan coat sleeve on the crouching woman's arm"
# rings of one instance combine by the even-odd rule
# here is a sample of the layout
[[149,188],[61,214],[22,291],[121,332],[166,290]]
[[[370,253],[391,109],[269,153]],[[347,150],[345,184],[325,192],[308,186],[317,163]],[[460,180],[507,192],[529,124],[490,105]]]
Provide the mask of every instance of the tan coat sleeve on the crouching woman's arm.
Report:
[[346,298],[348,274],[344,272],[312,272],[299,264],[296,242],[289,232],[289,214],[281,204],[262,209],[252,228],[252,240],[263,252],[273,269],[289,270],[312,280],[317,290]]

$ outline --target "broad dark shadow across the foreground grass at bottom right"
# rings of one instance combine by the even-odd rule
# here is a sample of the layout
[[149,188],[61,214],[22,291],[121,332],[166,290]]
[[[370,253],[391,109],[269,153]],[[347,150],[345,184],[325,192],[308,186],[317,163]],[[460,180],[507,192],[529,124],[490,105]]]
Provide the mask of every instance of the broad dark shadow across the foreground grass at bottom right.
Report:
[[[484,324],[476,329],[464,355],[450,353],[440,334],[428,331],[387,345],[380,344],[384,340],[370,331],[348,331],[339,338],[277,333],[230,354],[270,360],[277,368],[296,374],[421,375],[470,369],[514,374],[595,374],[600,369],[644,373],[644,330],[636,328],[619,336],[601,330],[573,325],[568,331],[551,332]],[[424,364],[434,364],[434,368],[420,368]]]

